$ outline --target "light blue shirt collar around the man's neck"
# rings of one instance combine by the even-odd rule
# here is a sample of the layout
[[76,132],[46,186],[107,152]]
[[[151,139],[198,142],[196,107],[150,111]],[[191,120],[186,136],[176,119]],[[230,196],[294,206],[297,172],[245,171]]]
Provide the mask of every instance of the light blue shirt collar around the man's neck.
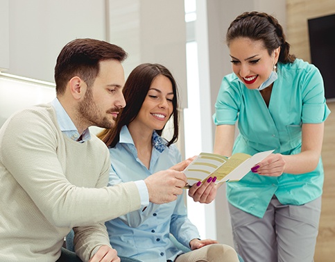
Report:
[[85,142],[91,138],[89,129],[85,129],[85,131],[81,134],[81,139],[78,140],[78,138],[80,138],[80,133],[78,133],[74,122],[72,122],[71,118],[67,114],[67,111],[65,111],[62,104],[60,104],[58,98],[53,99],[53,101],[51,101],[51,105],[55,108],[55,114],[57,116],[58,125],[60,126],[60,131],[65,133],[72,140],[76,140],[78,142]]

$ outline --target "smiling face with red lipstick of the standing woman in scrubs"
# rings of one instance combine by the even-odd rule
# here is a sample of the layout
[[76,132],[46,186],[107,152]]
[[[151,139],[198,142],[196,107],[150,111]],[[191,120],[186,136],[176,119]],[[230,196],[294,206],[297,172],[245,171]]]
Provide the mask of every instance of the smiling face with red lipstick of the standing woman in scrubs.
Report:
[[248,89],[257,89],[268,79],[280,54],[280,47],[269,55],[261,40],[250,38],[236,38],[230,42],[229,48],[232,71]]

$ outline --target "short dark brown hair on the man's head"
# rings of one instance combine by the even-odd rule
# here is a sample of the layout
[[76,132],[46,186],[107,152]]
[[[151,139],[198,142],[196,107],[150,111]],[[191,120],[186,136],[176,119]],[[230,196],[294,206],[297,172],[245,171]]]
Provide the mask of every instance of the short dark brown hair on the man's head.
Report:
[[63,47],[55,65],[55,84],[57,95],[65,93],[68,81],[79,76],[91,87],[98,76],[102,60],[123,62],[126,51],[115,44],[95,39],[76,39]]

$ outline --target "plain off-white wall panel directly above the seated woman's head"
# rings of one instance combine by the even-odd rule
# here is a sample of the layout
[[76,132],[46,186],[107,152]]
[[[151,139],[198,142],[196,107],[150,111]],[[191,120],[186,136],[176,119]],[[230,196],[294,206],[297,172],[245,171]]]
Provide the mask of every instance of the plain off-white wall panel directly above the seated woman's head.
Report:
[[187,107],[186,24],[184,1],[141,0],[141,62],[161,63],[171,70]]

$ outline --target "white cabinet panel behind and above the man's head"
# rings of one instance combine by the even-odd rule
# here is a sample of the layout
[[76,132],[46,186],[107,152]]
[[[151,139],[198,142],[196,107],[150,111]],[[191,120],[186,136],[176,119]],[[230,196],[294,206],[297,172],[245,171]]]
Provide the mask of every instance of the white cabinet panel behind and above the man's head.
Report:
[[53,82],[55,60],[67,42],[105,40],[105,31],[104,0],[10,0],[6,72]]

